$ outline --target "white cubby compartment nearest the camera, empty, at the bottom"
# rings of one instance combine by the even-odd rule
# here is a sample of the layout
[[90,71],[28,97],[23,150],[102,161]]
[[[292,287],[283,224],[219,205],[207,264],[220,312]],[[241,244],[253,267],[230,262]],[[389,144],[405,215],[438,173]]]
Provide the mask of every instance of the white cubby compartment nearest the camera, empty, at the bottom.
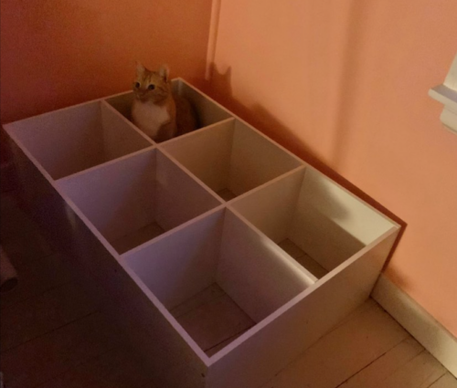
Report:
[[122,259],[207,356],[314,283],[281,249],[223,209]]

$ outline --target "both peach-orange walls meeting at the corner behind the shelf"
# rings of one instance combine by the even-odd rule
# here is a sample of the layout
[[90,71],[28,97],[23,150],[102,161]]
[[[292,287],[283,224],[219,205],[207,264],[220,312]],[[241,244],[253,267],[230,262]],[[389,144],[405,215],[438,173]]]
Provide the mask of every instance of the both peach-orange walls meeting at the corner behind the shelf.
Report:
[[[130,87],[133,60],[201,83],[210,0],[2,0],[1,120]],[[208,90],[408,228],[388,277],[457,335],[457,136],[427,96],[454,0],[223,2]]]

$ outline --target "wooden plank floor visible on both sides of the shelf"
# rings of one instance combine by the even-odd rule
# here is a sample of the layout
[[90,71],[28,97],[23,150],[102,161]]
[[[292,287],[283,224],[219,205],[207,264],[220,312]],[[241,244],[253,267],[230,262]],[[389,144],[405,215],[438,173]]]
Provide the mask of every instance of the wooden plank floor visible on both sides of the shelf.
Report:
[[[65,255],[7,195],[1,216],[2,246],[19,273],[17,288],[1,296],[5,387],[154,387],[103,307],[71,276]],[[457,388],[457,381],[369,299],[262,388],[336,387]]]

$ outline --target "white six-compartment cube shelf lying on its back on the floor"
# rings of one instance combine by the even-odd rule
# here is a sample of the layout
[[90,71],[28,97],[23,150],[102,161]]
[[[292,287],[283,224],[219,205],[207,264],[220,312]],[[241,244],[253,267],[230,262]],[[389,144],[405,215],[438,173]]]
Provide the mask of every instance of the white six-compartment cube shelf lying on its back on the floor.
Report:
[[369,296],[399,225],[183,79],[160,144],[126,92],[5,125],[23,198],[162,387],[255,388]]

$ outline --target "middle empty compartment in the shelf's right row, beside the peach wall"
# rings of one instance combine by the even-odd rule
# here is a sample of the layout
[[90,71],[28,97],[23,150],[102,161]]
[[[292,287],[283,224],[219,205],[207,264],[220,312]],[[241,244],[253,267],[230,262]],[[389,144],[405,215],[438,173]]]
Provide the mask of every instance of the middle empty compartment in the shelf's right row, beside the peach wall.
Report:
[[167,142],[163,149],[225,201],[303,165],[235,119]]

